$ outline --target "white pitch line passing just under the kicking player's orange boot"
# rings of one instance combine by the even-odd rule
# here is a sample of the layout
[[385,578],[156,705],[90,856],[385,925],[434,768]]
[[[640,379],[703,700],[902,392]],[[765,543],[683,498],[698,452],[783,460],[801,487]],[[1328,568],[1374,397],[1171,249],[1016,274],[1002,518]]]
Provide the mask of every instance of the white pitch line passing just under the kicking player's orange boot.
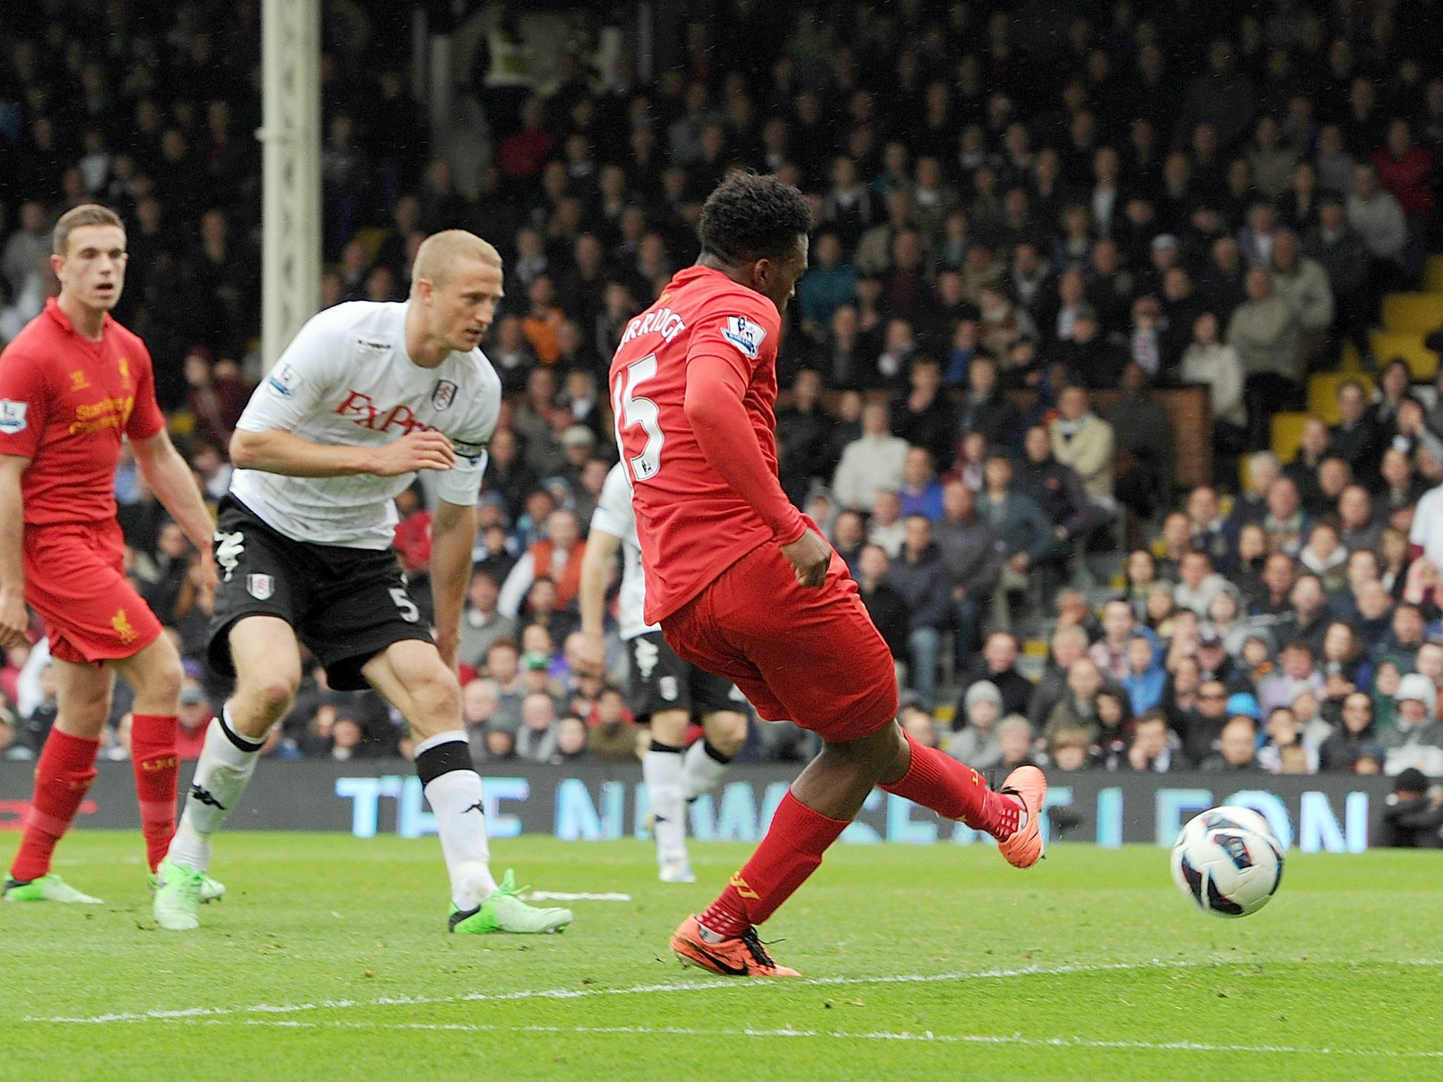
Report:
[[[1139,969],[1195,969],[1208,967],[1280,964],[1291,959],[1240,958],[1237,961],[1163,961],[1154,958],[1144,962],[1107,962],[1097,965],[1027,965],[1014,969],[974,969],[939,974],[898,974],[882,977],[810,977],[799,981],[782,981],[781,987],[835,987],[866,984],[939,984],[949,981],[993,981],[1013,977],[1065,977],[1089,972],[1128,972]],[[1443,958],[1414,958],[1408,961],[1374,959],[1374,965],[1443,965]],[[628,988],[522,988],[511,993],[465,993],[462,995],[381,995],[374,1000],[320,1000],[317,1003],[253,1004],[250,1007],[182,1007],[154,1008],[149,1011],[117,1011],[92,1014],[89,1017],[26,1016],[22,1021],[53,1023],[66,1026],[104,1026],[128,1021],[170,1021],[176,1019],[228,1019],[247,1014],[300,1014],[304,1011],[351,1010],[354,1007],[418,1007],[446,1003],[508,1003],[515,1000],[583,1000],[596,995],[649,995],[657,993],[693,993],[716,988],[769,988],[773,981],[746,981],[734,977],[707,978],[698,981],[674,981],[667,984],[636,984]]]

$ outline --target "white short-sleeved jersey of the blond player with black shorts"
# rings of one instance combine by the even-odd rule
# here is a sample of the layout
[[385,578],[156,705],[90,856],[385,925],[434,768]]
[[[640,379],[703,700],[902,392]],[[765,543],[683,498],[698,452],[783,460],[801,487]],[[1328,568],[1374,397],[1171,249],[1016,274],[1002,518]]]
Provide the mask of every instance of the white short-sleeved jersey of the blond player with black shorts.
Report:
[[[456,465],[436,475],[437,495],[473,505],[496,430],[501,379],[481,349],[452,353],[436,368],[414,364],[405,352],[405,303],[358,300],[312,316],[255,388],[237,427],[345,447],[381,447],[434,428],[456,447]],[[235,470],[231,493],[294,541],[388,548],[397,522],[392,499],[414,478]]]

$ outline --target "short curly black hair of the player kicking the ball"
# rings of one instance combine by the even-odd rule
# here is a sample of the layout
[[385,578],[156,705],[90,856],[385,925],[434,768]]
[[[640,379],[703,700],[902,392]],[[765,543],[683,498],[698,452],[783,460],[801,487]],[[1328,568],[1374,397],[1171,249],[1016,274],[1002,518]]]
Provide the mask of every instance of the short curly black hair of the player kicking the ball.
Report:
[[811,205],[775,176],[737,170],[701,205],[701,251],[730,264],[779,260],[811,229]]

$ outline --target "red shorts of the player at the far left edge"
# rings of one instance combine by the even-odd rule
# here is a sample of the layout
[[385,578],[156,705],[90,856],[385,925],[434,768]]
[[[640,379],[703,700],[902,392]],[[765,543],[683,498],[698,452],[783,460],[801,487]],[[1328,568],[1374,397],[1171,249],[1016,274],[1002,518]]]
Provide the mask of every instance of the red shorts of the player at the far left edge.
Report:
[[160,620],[128,581],[115,522],[27,527],[25,600],[45,620],[51,655],[76,665],[128,658],[160,635]]

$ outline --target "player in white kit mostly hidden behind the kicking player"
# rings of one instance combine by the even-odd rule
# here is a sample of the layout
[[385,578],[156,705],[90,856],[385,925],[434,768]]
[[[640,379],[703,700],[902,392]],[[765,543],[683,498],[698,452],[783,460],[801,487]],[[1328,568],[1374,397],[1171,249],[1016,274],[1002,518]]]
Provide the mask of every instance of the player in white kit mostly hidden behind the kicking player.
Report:
[[[602,610],[618,547],[622,550],[618,615],[631,662],[631,707],[638,721],[651,724],[651,744],[642,753],[641,769],[651,802],[657,864],[664,883],[696,883],[687,856],[687,805],[716,788],[746,740],[746,700],[729,679],[678,658],[661,628],[648,625],[642,616],[646,579],[631,480],[620,463],[606,475],[582,558],[582,659],[587,668],[597,672],[605,668]],[[701,720],[706,736],[688,749],[687,724],[693,717]]]

